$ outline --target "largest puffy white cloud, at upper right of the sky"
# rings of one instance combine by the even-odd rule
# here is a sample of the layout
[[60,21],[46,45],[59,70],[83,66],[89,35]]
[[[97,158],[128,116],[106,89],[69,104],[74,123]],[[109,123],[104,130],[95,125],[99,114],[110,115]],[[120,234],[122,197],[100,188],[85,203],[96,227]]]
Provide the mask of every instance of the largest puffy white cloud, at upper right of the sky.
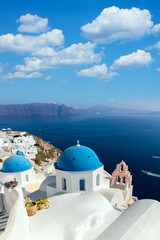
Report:
[[[86,38],[96,43],[111,43],[116,40],[138,40],[146,34],[151,34],[153,21],[148,10],[139,8],[120,9],[105,8],[101,14],[81,27]],[[153,32],[159,31],[159,24]]]

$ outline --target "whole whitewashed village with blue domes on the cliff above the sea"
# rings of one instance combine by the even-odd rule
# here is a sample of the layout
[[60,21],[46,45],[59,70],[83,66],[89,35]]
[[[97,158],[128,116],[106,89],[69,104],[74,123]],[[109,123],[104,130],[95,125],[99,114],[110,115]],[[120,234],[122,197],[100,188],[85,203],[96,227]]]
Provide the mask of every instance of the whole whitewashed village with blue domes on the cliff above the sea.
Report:
[[160,203],[133,195],[124,161],[108,173],[96,149],[77,140],[38,164],[40,139],[0,133],[1,240],[160,239]]

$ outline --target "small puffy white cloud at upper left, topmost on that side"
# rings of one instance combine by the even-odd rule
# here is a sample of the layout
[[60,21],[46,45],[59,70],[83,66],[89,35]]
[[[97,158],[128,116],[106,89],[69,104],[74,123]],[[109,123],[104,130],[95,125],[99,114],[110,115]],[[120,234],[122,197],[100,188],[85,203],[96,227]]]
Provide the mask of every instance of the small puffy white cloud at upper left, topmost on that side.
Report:
[[18,31],[22,33],[41,33],[49,29],[47,18],[31,15],[29,13],[22,15],[16,22],[20,23]]

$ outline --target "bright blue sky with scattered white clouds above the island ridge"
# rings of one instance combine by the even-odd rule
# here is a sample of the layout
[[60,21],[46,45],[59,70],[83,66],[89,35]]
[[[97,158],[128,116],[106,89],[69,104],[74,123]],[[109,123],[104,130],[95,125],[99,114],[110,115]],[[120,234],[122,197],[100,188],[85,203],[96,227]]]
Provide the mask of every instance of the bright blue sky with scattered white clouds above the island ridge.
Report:
[[159,10],[155,0],[3,1],[0,103],[160,110]]

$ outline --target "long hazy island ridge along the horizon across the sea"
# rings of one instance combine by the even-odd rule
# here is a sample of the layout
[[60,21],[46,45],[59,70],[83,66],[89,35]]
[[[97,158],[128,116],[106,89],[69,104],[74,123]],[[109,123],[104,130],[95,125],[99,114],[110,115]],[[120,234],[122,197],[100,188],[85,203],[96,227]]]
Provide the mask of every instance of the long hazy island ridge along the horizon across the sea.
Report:
[[74,108],[65,104],[57,103],[29,103],[29,104],[1,104],[0,116],[105,116],[111,114],[141,114],[140,111],[129,108],[108,107],[96,105],[89,108]]

